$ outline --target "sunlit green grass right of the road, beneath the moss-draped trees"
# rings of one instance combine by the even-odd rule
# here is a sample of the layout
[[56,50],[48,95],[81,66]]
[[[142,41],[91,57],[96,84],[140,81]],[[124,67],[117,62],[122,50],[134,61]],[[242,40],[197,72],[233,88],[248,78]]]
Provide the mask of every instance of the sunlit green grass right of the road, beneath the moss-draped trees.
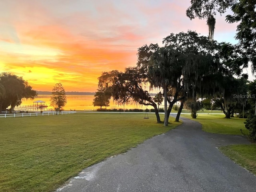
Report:
[[[190,114],[181,114],[181,116],[192,119]],[[226,119],[224,114],[198,114],[197,118],[192,120],[200,122],[202,130],[205,132],[232,135],[248,134],[248,130],[244,126],[246,119]]]

